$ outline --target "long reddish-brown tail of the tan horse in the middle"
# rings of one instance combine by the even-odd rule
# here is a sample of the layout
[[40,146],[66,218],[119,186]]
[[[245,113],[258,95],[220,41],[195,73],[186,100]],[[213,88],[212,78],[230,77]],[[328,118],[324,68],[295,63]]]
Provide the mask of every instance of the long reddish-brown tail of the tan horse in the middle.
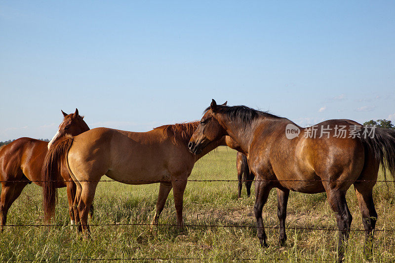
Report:
[[42,165],[42,178],[44,186],[42,188],[42,205],[45,221],[49,222],[55,213],[55,206],[58,199],[57,182],[61,176],[62,163],[66,160],[67,154],[73,145],[74,138],[66,135],[55,145],[52,145],[45,155]]

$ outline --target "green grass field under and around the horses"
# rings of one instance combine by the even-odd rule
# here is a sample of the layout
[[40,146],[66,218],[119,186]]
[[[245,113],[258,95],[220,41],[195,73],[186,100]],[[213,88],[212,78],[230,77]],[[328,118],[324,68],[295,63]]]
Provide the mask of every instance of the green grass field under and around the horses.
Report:
[[[103,177],[102,179],[105,179]],[[190,179],[236,180],[236,151],[221,147],[200,159]],[[130,186],[118,182],[99,183],[90,224],[151,223],[155,214],[158,184]],[[253,187],[252,187],[253,188]],[[378,213],[376,229],[395,229],[395,190],[392,184],[377,183],[374,200]],[[362,229],[354,187],[347,194],[353,215],[353,229]],[[189,182],[184,195],[186,225],[255,226],[254,190],[237,198],[236,182]],[[276,191],[271,191],[264,207],[265,226],[277,226]],[[255,228],[250,227],[185,227],[147,225],[92,226],[92,238],[82,239],[70,226],[66,189],[59,191],[56,227],[7,227],[0,234],[0,261],[70,261],[132,258],[191,259],[190,261],[229,262],[257,259],[265,262],[333,262],[337,254],[337,231],[287,229],[287,245],[278,245],[278,229],[267,228],[269,247],[262,249]],[[159,224],[175,224],[172,192],[159,219]],[[44,224],[41,188],[29,185],[14,202],[7,225]],[[287,227],[334,228],[336,220],[325,193],[291,192],[287,210]],[[351,232],[346,262],[363,261],[363,232]],[[395,232],[376,231],[372,262],[395,261]],[[122,261],[122,260],[121,260]],[[166,260],[165,260],[166,261]]]

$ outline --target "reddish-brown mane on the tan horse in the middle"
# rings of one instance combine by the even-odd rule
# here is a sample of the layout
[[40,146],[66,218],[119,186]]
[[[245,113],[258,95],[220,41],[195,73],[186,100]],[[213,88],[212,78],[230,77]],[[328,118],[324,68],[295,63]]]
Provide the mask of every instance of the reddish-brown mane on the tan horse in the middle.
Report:
[[191,121],[162,125],[154,128],[154,130],[163,129],[164,134],[173,137],[174,143],[181,142],[185,145],[188,145],[189,141],[191,140],[192,134],[195,132],[198,125],[199,121]]

